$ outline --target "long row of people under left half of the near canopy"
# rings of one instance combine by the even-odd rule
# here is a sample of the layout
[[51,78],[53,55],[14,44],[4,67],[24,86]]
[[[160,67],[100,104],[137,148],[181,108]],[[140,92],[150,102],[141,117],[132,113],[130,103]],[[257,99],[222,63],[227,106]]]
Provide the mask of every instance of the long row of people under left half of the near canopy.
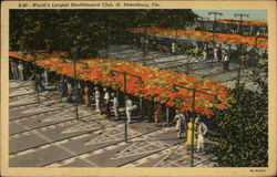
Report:
[[10,59],[10,79],[31,81],[34,92],[43,92],[48,85],[52,85],[58,93],[57,98],[59,102],[85,104],[92,110],[95,108],[96,114],[105,114],[106,117],[113,117],[114,119],[120,118],[120,104],[125,105],[127,123],[132,122],[132,112],[137,108],[129,95],[125,95],[124,101],[120,102],[117,92],[92,82],[49,72],[42,67],[34,66],[30,62]]

